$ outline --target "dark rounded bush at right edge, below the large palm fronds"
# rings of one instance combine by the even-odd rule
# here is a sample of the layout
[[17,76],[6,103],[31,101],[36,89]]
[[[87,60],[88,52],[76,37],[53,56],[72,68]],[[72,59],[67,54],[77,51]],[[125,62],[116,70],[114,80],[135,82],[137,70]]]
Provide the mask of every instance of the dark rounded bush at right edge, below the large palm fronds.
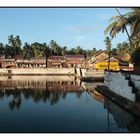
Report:
[[133,51],[131,59],[135,66],[140,66],[140,47]]

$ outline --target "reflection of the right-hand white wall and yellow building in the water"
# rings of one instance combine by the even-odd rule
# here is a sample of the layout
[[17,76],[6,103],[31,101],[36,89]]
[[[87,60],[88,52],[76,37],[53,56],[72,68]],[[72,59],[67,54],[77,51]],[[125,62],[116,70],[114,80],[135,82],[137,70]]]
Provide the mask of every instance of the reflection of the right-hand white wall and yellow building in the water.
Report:
[[140,118],[134,117],[126,110],[122,109],[118,105],[114,104],[111,100],[104,97],[102,94],[97,92],[94,87],[101,83],[85,83],[86,90],[96,99],[103,103],[104,108],[107,109],[107,121],[108,121],[108,132],[112,130],[112,118],[115,120],[118,128],[127,129],[131,132],[140,132]]

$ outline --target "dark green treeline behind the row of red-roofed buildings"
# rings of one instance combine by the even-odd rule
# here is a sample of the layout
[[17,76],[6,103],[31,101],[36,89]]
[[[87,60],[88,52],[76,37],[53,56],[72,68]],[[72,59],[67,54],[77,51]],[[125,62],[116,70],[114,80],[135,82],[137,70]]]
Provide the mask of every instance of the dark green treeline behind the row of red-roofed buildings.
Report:
[[8,37],[8,44],[4,45],[0,43],[0,54],[5,54],[6,58],[14,58],[17,55],[20,55],[27,59],[32,57],[46,57],[47,60],[51,55],[83,54],[85,57],[90,57],[95,55],[97,52],[98,50],[96,50],[96,48],[85,50],[81,46],[68,50],[67,46],[60,46],[54,40],[51,40],[48,45],[46,43],[39,42],[31,44],[25,42],[22,46],[20,37],[14,37],[13,35]]

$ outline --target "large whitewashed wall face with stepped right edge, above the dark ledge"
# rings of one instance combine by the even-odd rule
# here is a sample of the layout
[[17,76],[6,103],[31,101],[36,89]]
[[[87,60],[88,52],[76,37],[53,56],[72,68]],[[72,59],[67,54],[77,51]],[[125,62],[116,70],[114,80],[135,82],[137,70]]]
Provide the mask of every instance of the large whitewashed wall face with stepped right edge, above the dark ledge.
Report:
[[129,85],[129,79],[121,72],[105,72],[104,84],[114,93],[136,101],[136,94],[133,93],[133,87]]

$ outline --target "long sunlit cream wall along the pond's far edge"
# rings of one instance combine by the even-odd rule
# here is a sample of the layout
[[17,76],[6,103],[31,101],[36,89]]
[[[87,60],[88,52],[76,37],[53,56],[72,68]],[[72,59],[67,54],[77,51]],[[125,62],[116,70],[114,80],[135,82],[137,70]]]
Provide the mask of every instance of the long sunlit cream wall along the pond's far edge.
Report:
[[0,75],[74,75],[73,68],[15,68],[0,69]]

